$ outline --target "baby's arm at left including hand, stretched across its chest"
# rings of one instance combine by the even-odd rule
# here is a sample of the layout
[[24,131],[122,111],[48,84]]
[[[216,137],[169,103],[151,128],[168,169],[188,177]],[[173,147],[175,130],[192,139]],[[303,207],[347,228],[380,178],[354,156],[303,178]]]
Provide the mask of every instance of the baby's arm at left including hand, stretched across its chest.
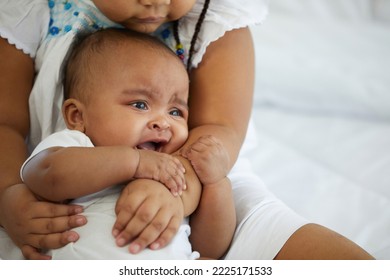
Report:
[[125,146],[52,147],[31,158],[23,179],[37,195],[64,201],[134,178],[154,179],[173,193],[184,186],[183,166],[174,157]]

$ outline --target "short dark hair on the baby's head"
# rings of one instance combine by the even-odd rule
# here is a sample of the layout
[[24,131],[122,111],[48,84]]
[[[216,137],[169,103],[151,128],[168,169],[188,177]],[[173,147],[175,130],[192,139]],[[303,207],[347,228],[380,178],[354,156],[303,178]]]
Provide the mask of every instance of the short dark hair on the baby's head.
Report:
[[[180,61],[164,43],[145,33],[124,28],[107,28],[93,33],[79,33],[69,48],[62,65],[64,100],[75,97],[74,94],[80,91],[82,79],[85,79],[89,70],[95,67],[93,64],[94,55],[104,52],[107,48],[112,48],[115,51],[115,47],[128,42],[142,45],[144,48],[160,52],[162,55],[171,55]],[[80,96],[77,97],[80,98]]]

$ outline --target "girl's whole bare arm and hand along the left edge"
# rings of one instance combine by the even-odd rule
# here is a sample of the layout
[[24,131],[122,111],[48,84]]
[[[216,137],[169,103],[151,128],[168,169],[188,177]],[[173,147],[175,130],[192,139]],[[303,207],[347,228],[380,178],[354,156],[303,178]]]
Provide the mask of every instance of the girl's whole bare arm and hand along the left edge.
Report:
[[77,240],[78,235],[67,230],[86,220],[72,216],[81,211],[79,206],[38,202],[22,184],[19,170],[27,156],[24,140],[29,130],[34,65],[28,55],[2,38],[0,61],[0,224],[15,244],[23,245],[27,258],[46,259],[33,247],[58,248],[69,243],[69,238]]

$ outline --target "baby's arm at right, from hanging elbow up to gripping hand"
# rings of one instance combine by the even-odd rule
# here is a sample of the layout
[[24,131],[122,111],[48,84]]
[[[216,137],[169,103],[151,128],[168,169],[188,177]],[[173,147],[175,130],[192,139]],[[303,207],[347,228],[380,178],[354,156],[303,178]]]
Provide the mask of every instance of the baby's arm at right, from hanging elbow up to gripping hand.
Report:
[[213,136],[200,137],[181,154],[191,162],[203,184],[199,207],[191,215],[191,243],[201,256],[218,259],[228,249],[236,226],[227,178],[229,155]]

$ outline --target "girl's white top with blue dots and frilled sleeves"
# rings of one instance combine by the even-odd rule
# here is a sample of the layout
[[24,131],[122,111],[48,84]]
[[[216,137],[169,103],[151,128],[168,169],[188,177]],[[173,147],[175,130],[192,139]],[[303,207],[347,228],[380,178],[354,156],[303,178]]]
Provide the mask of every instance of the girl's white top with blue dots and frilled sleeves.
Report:
[[[204,0],[179,22],[186,55]],[[268,0],[213,0],[210,2],[197,39],[191,67],[197,67],[207,46],[225,32],[261,23],[268,13]],[[91,0],[2,0],[0,36],[35,60],[37,72],[30,95],[30,151],[44,138],[65,128],[61,115],[61,64],[80,31],[118,26],[95,7]],[[154,35],[170,48],[176,42],[172,27],[165,24]]]

